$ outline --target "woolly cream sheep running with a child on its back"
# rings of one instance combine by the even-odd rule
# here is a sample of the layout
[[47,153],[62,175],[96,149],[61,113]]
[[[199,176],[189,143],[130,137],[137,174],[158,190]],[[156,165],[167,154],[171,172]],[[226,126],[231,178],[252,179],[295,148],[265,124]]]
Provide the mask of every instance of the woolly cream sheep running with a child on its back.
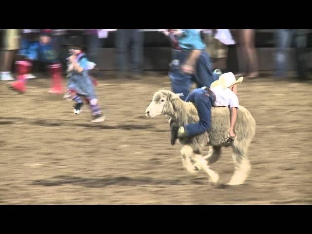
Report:
[[[145,115],[149,118],[161,114],[166,115],[169,122],[175,121],[179,126],[199,121],[197,109],[192,102],[185,102],[178,94],[163,89],[154,94],[152,102],[145,110]],[[183,145],[180,150],[183,166],[191,173],[203,169],[208,174],[210,182],[215,185],[219,176],[208,165],[219,159],[221,147],[232,146],[234,174],[227,185],[243,184],[251,169],[247,152],[255,134],[255,125],[250,112],[243,106],[239,106],[234,126],[236,137],[232,142],[224,144],[222,142],[225,142],[230,131],[230,110],[228,107],[212,107],[210,134],[205,132],[178,140]],[[209,153],[202,156],[206,146],[209,146]]]

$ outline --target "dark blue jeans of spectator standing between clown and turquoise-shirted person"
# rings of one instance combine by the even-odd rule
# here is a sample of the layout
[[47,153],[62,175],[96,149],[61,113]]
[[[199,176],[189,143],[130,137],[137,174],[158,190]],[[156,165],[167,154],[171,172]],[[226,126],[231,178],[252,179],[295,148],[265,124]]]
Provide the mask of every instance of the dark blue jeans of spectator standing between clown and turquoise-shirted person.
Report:
[[131,46],[131,71],[140,73],[143,66],[144,34],[138,29],[118,29],[116,32],[117,68],[128,71],[128,52]]

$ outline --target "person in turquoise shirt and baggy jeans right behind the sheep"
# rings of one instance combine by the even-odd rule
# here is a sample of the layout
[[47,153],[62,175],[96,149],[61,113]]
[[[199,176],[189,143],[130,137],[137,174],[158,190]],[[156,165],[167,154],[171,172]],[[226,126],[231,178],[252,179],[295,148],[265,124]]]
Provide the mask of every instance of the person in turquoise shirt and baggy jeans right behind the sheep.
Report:
[[164,33],[170,37],[173,45],[173,58],[169,71],[172,91],[183,93],[181,99],[184,100],[189,95],[193,81],[198,87],[210,87],[221,73],[213,72],[200,30],[169,29],[168,32]]

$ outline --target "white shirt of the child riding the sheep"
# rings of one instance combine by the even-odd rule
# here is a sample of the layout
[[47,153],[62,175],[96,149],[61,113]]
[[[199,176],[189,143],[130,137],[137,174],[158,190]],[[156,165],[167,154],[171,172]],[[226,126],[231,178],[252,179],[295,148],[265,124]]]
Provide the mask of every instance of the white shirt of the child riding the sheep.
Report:
[[231,89],[222,89],[215,87],[211,88],[211,91],[213,91],[215,94],[214,106],[230,106],[231,108],[236,107],[238,109],[238,98]]

